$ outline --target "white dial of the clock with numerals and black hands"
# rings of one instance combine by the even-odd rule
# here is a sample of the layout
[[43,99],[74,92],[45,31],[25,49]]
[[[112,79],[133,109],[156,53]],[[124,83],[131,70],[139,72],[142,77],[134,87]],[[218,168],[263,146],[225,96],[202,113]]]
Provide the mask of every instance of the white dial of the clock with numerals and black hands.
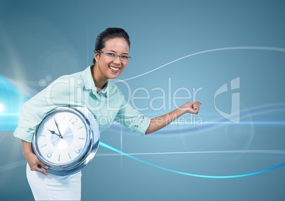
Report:
[[43,162],[62,165],[81,159],[89,144],[89,130],[84,118],[68,110],[47,115],[35,136]]

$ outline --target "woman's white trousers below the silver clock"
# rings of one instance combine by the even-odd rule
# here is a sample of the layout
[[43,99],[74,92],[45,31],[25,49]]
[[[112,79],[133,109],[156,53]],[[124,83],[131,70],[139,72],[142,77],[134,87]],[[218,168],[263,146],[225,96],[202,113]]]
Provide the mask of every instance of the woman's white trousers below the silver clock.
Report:
[[71,176],[47,176],[26,167],[30,189],[35,200],[80,200],[81,172]]

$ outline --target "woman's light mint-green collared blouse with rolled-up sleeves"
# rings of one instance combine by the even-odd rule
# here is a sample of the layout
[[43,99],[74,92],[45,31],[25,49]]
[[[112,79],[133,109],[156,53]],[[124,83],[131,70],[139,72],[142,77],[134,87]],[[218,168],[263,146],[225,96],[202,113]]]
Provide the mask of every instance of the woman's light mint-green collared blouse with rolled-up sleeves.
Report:
[[143,136],[150,125],[150,117],[145,117],[127,103],[123,93],[110,81],[96,93],[91,67],[75,74],[61,76],[30,98],[21,108],[14,136],[32,142],[36,126],[50,110],[59,106],[88,108],[99,123],[100,132],[116,120]]

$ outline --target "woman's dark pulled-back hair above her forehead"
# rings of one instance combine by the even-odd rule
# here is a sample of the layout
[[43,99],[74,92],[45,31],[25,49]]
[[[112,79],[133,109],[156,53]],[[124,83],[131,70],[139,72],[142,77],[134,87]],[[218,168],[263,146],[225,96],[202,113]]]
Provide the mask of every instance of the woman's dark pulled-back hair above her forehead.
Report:
[[[106,30],[97,36],[94,52],[96,50],[102,50],[105,47],[106,40],[112,38],[123,38],[128,42],[128,47],[130,47],[130,38],[123,28],[106,28]],[[93,64],[95,64],[95,62],[96,61],[93,58]]]

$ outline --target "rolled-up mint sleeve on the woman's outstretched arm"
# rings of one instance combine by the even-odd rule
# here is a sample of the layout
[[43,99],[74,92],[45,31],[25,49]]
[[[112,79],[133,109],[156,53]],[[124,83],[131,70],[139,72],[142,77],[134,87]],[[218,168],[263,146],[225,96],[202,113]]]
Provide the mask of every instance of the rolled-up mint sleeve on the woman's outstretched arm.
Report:
[[130,131],[143,136],[150,126],[150,117],[146,117],[138,110],[135,110],[129,103],[125,101],[121,109],[118,111],[116,120],[127,127]]

